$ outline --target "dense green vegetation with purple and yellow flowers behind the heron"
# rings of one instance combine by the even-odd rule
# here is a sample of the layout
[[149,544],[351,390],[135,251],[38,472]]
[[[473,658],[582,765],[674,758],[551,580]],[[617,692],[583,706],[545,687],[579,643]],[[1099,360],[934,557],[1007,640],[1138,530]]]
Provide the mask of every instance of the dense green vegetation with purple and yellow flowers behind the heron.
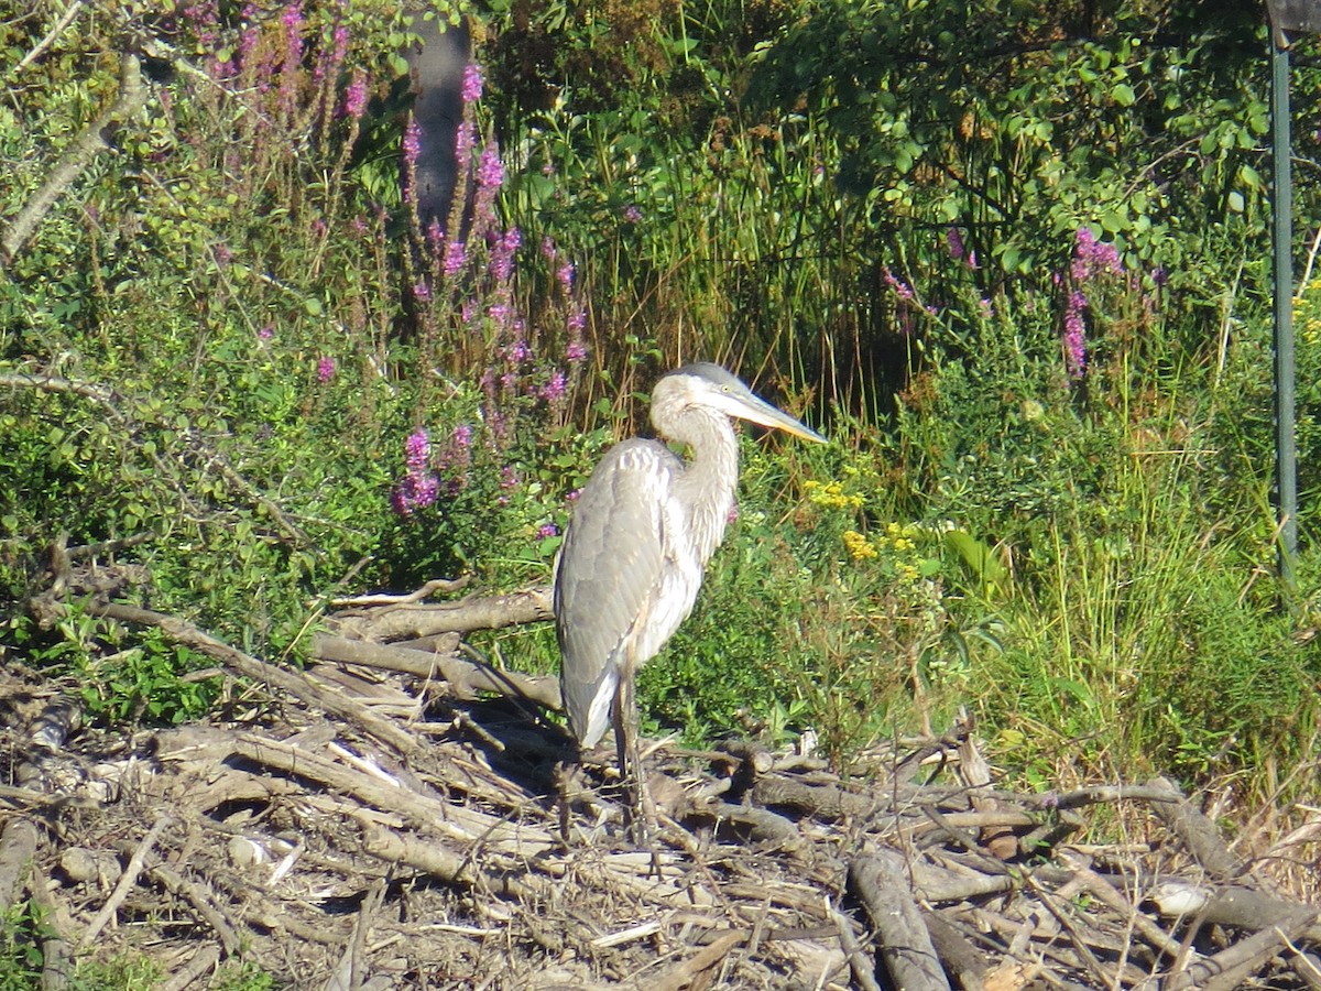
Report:
[[[95,717],[221,686],[159,637],[38,628],[61,534],[296,662],[343,591],[546,581],[569,494],[700,357],[834,443],[748,439],[653,728],[843,760],[966,707],[1024,784],[1313,780],[1321,202],[1291,589],[1250,11],[493,3],[443,230],[408,196],[398,4],[3,7],[0,227],[129,96],[0,276],[0,641]],[[482,646],[557,662],[544,629]]]

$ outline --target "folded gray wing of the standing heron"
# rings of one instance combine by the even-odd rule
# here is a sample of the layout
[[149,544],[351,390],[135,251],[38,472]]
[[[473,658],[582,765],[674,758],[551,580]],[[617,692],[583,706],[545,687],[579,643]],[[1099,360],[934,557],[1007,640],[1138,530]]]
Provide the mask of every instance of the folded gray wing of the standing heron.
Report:
[[626,657],[663,584],[666,499],[679,469],[679,459],[657,441],[616,445],[579,495],[564,534],[555,564],[560,684],[569,725],[587,747],[610,724]]

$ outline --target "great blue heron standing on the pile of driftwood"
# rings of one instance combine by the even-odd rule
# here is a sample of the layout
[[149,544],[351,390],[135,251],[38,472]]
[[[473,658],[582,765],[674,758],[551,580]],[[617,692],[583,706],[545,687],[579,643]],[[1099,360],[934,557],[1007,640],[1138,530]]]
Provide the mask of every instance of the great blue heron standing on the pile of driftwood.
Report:
[[569,728],[583,747],[594,747],[613,721],[621,770],[633,777],[645,819],[651,813],[633,682],[692,612],[703,569],[725,534],[738,481],[729,418],[824,443],[719,365],[686,365],[657,382],[651,423],[687,445],[691,460],[658,440],[634,437],[612,448],[580,493],[555,562]]

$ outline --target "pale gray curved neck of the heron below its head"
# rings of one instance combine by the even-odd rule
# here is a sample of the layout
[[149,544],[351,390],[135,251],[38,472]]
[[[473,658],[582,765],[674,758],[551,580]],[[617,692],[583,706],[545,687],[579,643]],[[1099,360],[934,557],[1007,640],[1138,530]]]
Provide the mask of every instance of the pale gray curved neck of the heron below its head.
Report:
[[688,445],[688,462],[675,482],[688,507],[694,544],[705,564],[725,535],[738,482],[738,437],[724,414],[688,408],[657,423],[671,440]]

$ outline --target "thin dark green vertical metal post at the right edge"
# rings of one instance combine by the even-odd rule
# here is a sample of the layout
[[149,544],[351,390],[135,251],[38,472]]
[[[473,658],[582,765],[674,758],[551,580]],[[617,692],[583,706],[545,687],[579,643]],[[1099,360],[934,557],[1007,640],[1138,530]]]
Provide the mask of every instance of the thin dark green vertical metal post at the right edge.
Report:
[[1293,180],[1289,157],[1289,52],[1271,32],[1271,196],[1275,258],[1275,478],[1280,577],[1293,585],[1299,550],[1299,480],[1293,411]]

